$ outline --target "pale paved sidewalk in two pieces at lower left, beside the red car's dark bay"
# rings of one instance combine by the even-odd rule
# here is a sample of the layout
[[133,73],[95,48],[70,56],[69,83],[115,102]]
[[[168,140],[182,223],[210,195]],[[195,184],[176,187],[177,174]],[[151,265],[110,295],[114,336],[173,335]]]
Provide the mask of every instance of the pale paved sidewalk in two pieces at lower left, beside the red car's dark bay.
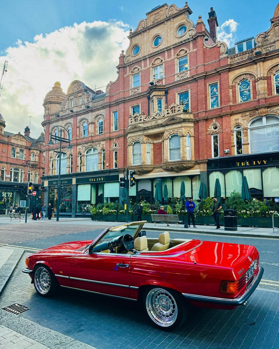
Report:
[[[23,253],[22,248],[0,247],[0,297]],[[0,348],[96,349],[4,310],[0,310]]]

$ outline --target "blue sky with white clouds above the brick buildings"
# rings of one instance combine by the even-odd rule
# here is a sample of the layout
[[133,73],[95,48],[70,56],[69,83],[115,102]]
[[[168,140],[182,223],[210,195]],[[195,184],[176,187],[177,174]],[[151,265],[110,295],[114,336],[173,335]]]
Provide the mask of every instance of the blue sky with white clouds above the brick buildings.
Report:
[[[55,81],[66,92],[71,81],[82,80],[91,88],[115,80],[118,57],[126,50],[129,29],[135,29],[146,12],[164,1],[101,0],[0,0],[0,70],[8,60],[8,72],[0,98],[5,131],[21,131],[29,125],[31,136],[43,131],[43,99]],[[179,8],[185,1],[177,0]],[[210,7],[216,11],[218,38],[233,43],[256,37],[270,28],[277,1],[188,1],[196,23],[201,15],[208,28]],[[88,36],[89,28],[91,36]],[[98,29],[106,32],[100,38]],[[94,35],[95,33],[95,35]],[[104,55],[110,52],[109,59]],[[28,101],[29,99],[29,101]],[[30,101],[31,99],[31,101]],[[23,124],[18,125],[20,118]],[[26,125],[25,125],[26,124]]]

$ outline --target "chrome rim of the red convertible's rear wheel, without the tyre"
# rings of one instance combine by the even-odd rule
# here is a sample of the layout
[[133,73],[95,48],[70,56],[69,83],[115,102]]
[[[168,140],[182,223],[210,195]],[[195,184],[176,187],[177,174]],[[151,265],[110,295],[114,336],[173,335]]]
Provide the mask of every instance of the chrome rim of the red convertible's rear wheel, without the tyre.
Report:
[[153,288],[145,298],[146,311],[160,327],[172,326],[178,317],[175,298],[163,288]]

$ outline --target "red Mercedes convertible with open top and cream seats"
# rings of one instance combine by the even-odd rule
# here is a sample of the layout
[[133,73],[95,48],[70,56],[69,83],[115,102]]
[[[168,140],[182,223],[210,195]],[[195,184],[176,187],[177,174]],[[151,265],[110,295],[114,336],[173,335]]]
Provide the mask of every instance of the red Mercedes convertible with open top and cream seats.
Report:
[[59,287],[140,300],[157,327],[172,330],[189,303],[234,309],[259,284],[263,268],[254,246],[146,237],[144,222],[105,229],[96,239],[63,243],[30,254],[23,273],[42,297]]

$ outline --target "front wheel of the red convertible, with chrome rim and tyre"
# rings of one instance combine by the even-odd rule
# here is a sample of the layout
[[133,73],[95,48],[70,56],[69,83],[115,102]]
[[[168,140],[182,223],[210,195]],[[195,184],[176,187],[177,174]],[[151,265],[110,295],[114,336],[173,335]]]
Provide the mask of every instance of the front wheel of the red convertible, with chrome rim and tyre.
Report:
[[35,290],[42,297],[50,297],[58,289],[58,282],[47,266],[40,265],[35,268],[33,282]]

